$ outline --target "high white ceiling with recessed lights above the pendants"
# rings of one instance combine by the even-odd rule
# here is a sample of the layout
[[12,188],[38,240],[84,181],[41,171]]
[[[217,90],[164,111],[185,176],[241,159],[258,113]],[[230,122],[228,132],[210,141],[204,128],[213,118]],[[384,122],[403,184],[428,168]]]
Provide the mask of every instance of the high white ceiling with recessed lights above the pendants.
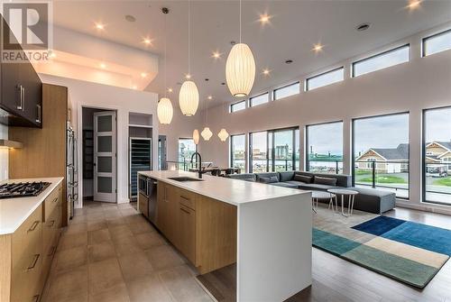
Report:
[[[239,40],[238,1],[191,2],[191,74],[198,84],[202,101],[214,96],[208,105],[232,102],[225,82],[226,57]],[[289,82],[336,62],[397,41],[413,33],[451,21],[451,1],[423,1],[418,10],[406,9],[405,0],[364,1],[243,1],[243,41],[253,50],[257,77],[253,93]],[[167,15],[167,87],[178,103],[179,85],[188,73],[188,1],[54,1],[54,23],[101,39],[164,53],[164,15]],[[272,15],[271,24],[257,22],[259,14]],[[136,22],[125,21],[131,14]],[[95,23],[106,24],[97,32]],[[359,23],[371,23],[366,32],[357,32]],[[150,37],[152,46],[143,44]],[[324,50],[315,54],[314,43]],[[222,59],[211,58],[219,50]],[[285,59],[293,59],[290,65]],[[261,74],[271,69],[271,76]],[[164,93],[163,60],[159,75],[146,90]],[[209,78],[205,81],[205,78]]]

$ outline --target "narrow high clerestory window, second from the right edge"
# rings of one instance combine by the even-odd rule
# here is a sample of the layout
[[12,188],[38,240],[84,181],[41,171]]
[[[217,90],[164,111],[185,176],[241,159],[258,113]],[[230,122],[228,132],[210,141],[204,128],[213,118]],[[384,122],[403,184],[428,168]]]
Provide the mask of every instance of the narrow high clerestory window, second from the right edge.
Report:
[[373,57],[361,59],[353,63],[353,77],[362,76],[380,69],[409,61],[410,45],[388,50]]

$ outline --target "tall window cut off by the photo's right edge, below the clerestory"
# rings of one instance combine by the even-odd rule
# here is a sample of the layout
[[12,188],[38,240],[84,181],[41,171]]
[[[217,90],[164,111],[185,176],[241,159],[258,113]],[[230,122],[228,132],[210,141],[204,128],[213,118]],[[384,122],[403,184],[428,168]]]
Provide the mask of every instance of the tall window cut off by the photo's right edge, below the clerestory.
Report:
[[423,200],[451,205],[451,107],[423,113]]

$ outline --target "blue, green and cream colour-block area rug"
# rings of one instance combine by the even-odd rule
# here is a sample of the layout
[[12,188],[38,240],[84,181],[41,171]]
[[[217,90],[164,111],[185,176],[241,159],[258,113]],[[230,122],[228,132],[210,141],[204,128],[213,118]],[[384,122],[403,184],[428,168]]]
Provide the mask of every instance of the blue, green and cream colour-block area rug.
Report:
[[380,215],[340,232],[318,225],[325,224],[315,224],[313,246],[416,288],[426,287],[451,255],[451,231],[426,224]]

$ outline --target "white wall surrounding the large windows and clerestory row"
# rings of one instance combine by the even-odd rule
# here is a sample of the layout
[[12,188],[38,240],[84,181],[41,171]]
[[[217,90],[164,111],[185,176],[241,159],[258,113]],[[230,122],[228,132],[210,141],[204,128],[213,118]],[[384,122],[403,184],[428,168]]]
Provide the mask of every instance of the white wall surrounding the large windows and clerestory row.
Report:
[[[434,31],[430,31],[434,32]],[[304,159],[305,126],[331,121],[344,122],[344,169],[351,173],[352,119],[378,114],[410,112],[410,202],[407,205],[425,208],[421,196],[421,118],[422,109],[451,105],[451,50],[420,58],[420,39],[430,32],[391,43],[381,50],[410,42],[410,62],[382,69],[357,78],[350,78],[347,59],[336,66],[345,66],[345,80],[327,87],[301,92],[269,104],[228,114],[228,106],[208,111],[208,126],[215,134],[209,141],[201,140],[202,156],[218,166],[229,165],[229,143],[220,142],[216,134],[226,124],[230,134],[251,133],[267,129],[299,126],[301,159]],[[377,53],[381,50],[376,50]],[[327,68],[327,69],[329,69]],[[324,70],[318,70],[318,73]],[[299,77],[302,81],[311,75]],[[281,85],[287,83],[281,83]],[[221,115],[222,114],[222,115]],[[217,123],[225,119],[225,122]],[[301,169],[304,163],[301,162]],[[400,202],[402,204],[402,202]],[[440,206],[432,206],[442,208]]]

